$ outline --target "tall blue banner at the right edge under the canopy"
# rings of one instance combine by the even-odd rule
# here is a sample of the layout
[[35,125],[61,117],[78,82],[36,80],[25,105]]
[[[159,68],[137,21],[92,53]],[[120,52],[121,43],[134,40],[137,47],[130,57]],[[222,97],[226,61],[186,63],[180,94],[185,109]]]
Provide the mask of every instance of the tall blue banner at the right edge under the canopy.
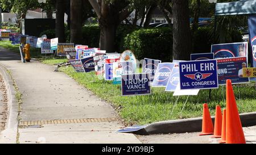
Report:
[[[251,67],[256,68],[256,15],[250,15],[248,18],[249,38],[251,44]],[[256,81],[256,78],[250,78],[250,80]]]

